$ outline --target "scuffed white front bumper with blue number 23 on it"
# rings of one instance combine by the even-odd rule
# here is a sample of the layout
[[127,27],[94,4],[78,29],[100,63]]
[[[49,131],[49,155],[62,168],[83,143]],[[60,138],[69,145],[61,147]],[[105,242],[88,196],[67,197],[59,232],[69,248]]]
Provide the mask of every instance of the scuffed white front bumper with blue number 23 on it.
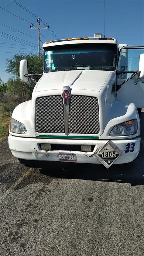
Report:
[[[76,154],[76,162],[100,164],[96,157],[98,149],[108,143],[109,140],[56,140],[42,138],[16,137],[9,135],[9,148],[14,157],[25,160],[37,161],[58,161],[58,153]],[[140,138],[131,140],[112,140],[113,143],[122,151],[122,155],[115,160],[114,164],[124,164],[133,161],[140,150]],[[62,150],[41,150],[39,144],[69,144],[69,145],[94,145],[93,152],[81,151],[62,151]],[[127,149],[127,144],[130,144]],[[132,145],[132,147],[131,147]],[[133,146],[134,145],[134,146]],[[125,152],[126,151],[126,152]]]

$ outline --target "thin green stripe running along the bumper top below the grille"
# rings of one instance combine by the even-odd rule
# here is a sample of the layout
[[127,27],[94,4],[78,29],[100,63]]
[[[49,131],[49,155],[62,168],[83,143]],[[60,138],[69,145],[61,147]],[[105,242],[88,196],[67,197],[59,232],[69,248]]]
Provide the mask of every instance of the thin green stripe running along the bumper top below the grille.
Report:
[[50,139],[88,139],[96,140],[98,136],[66,136],[66,135],[38,135],[36,138],[50,138]]

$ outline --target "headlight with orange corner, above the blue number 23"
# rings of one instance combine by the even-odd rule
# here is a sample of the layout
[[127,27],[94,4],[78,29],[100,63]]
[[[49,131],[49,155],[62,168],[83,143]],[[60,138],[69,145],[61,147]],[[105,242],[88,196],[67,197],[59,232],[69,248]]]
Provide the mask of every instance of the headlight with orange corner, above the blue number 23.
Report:
[[120,123],[116,125],[110,132],[110,136],[126,136],[137,133],[138,122],[137,119]]

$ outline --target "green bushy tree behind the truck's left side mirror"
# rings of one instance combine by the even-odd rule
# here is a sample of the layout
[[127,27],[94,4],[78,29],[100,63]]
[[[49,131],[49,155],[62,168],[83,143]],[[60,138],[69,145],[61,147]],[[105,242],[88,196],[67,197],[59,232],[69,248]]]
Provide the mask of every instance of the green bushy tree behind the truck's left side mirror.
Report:
[[[30,99],[35,84],[32,81],[26,83],[22,82],[19,78],[19,63],[22,59],[28,61],[28,73],[42,73],[43,72],[43,56],[33,53],[24,54],[19,53],[13,55],[12,58],[6,59],[7,69],[6,72],[12,74],[12,77],[7,81],[8,92],[11,94],[19,95],[19,102]],[[36,81],[39,80],[39,76],[33,77]]]

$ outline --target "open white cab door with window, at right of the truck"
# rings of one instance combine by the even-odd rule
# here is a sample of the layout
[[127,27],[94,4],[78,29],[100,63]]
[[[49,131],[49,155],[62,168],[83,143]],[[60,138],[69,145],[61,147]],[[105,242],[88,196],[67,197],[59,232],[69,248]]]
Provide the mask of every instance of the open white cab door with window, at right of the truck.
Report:
[[144,107],[144,47],[121,48],[117,69],[117,99],[133,102],[136,108]]

